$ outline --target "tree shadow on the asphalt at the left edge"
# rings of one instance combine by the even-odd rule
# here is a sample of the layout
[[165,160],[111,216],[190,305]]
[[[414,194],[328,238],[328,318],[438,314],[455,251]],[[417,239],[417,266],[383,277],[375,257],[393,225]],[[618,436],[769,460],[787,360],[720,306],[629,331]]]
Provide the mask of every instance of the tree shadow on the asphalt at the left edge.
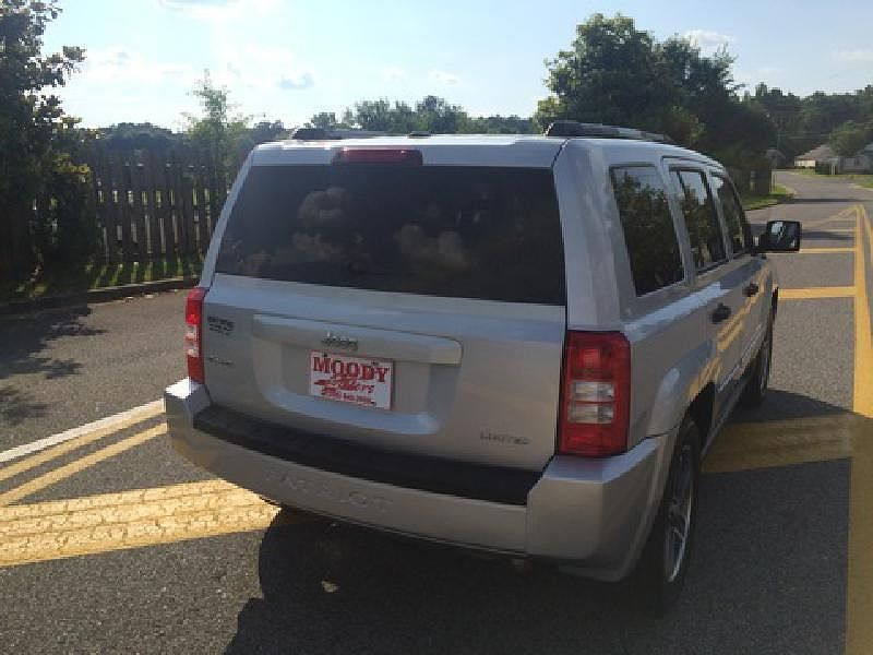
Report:
[[68,336],[92,336],[105,331],[89,327],[83,319],[91,314],[87,305],[51,309],[0,320],[0,380],[17,374],[41,373],[63,378],[80,372],[81,364],[50,354],[52,341]]

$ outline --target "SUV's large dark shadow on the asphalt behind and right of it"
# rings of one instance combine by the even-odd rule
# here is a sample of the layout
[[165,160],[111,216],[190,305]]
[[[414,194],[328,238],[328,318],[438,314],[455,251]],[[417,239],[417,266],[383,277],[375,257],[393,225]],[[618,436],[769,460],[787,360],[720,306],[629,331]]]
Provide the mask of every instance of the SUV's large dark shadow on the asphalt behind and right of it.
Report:
[[[773,391],[765,408],[739,420],[837,413],[850,414]],[[643,611],[630,583],[283,510],[259,552],[263,597],[241,608],[226,652],[838,651],[848,524],[847,512],[835,510],[847,502],[848,469],[838,460],[705,475],[685,590],[663,617]],[[768,651],[773,634],[780,645]]]

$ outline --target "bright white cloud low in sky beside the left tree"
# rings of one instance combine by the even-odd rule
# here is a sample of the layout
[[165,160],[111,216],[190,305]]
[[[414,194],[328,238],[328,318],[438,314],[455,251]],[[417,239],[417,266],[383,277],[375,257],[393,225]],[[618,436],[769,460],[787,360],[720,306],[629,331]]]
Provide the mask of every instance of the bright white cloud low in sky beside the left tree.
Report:
[[82,76],[94,82],[134,84],[180,80],[190,83],[196,72],[187,63],[150,61],[142,53],[121,47],[88,49]]

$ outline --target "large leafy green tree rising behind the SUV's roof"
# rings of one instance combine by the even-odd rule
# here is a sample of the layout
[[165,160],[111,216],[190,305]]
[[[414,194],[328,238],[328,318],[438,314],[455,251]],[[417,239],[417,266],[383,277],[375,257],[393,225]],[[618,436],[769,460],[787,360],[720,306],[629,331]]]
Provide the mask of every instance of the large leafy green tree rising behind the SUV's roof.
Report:
[[535,119],[542,128],[575,119],[661,132],[746,165],[772,144],[774,129],[764,112],[740,103],[732,62],[726,49],[706,57],[685,38],[658,41],[633,19],[594,14],[548,62],[551,95]]

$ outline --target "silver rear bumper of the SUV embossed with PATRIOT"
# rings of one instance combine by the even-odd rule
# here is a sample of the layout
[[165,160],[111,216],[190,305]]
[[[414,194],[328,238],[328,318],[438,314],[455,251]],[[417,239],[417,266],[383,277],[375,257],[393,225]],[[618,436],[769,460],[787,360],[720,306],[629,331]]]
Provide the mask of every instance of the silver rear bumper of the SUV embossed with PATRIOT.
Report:
[[186,379],[165,392],[176,450],[217,476],[278,502],[340,520],[553,561],[618,580],[633,568],[663,487],[673,434],[603,460],[555,456],[527,495],[507,504],[360,479],[231,443],[194,427],[210,404]]

